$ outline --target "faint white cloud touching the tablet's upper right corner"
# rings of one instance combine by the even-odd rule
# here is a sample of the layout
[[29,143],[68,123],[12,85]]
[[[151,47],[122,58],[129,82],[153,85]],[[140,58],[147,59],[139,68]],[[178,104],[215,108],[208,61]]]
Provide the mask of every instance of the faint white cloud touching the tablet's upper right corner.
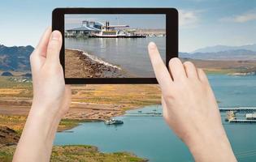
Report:
[[199,21],[199,11],[184,11],[179,10],[179,25],[183,28],[194,28]]

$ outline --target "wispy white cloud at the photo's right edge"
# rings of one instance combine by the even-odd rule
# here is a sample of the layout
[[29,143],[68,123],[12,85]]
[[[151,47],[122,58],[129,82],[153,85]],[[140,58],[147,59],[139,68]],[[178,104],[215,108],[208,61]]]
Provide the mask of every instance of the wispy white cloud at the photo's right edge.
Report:
[[234,15],[232,17],[225,17],[220,19],[221,21],[235,22],[235,23],[245,23],[248,21],[256,20],[256,11],[245,12],[241,15]]

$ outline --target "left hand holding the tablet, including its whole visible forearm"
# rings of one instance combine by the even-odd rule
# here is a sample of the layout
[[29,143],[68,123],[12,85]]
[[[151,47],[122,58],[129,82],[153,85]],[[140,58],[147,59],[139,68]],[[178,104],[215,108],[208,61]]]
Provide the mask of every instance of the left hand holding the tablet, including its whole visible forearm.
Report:
[[33,104],[17,145],[13,161],[50,161],[54,136],[71,102],[59,62],[62,35],[48,28],[30,56]]

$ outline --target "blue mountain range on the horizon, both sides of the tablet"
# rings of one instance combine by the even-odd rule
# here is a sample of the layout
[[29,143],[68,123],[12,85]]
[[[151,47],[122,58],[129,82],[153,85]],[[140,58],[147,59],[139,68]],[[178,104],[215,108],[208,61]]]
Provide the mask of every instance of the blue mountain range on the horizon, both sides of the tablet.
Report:
[[[0,70],[30,70],[29,55],[33,46],[0,45]],[[199,60],[256,60],[256,44],[242,46],[216,45],[197,49],[193,53],[179,53],[180,58]]]

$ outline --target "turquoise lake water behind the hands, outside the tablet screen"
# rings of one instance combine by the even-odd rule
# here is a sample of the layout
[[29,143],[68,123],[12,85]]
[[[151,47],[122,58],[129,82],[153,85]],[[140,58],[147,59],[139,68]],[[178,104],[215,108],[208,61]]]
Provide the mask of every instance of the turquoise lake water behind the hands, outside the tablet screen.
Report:
[[[256,107],[256,76],[209,75],[221,107]],[[152,112],[160,106],[146,106],[141,109]],[[131,110],[127,113],[137,113]],[[229,124],[223,126],[232,143],[239,161],[255,161],[256,125]],[[150,161],[193,161],[184,143],[167,127],[162,117],[117,117],[124,121],[122,126],[105,126],[102,122],[83,123],[72,129],[73,133],[58,133],[54,144],[90,144],[98,146],[100,151],[131,151]]]

